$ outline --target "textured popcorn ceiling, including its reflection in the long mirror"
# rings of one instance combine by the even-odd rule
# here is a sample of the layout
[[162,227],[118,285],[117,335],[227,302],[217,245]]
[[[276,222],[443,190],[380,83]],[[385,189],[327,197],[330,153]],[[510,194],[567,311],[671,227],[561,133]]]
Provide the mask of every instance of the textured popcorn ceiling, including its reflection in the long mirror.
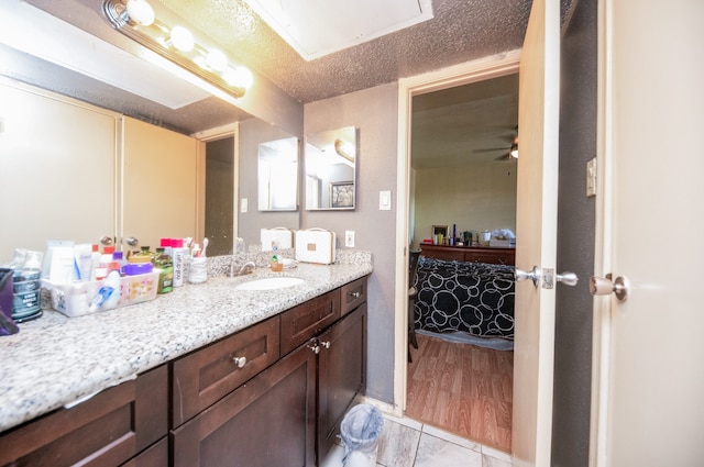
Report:
[[[103,40],[125,41],[102,18],[100,0],[24,1]],[[302,103],[520,48],[531,5],[531,0],[435,0],[429,21],[307,62],[242,1],[161,2]],[[570,0],[561,4],[564,18]],[[172,110],[1,45],[0,74],[186,134],[251,118],[217,98]]]

